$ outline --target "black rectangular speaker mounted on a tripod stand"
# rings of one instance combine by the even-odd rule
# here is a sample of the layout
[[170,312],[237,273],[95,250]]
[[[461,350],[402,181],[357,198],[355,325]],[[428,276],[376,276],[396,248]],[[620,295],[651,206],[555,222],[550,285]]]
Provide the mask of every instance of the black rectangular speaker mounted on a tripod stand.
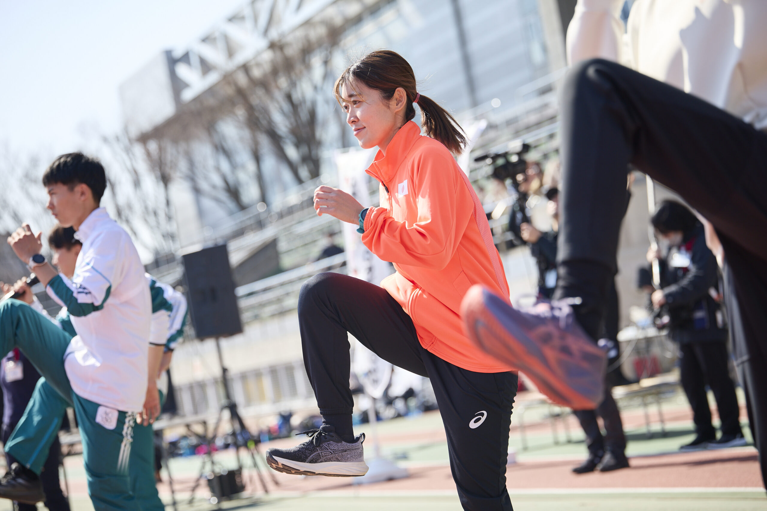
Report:
[[226,245],[184,254],[189,314],[198,339],[242,332]]

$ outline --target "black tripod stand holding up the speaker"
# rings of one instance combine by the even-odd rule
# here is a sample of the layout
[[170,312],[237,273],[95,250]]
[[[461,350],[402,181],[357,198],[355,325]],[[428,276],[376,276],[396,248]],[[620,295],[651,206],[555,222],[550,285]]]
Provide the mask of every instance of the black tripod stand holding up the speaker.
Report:
[[[237,403],[234,401],[234,399],[232,399],[232,394],[229,391],[229,369],[226,369],[224,365],[224,359],[221,355],[221,342],[219,337],[216,337],[216,352],[218,352],[219,365],[221,365],[221,377],[224,385],[224,401],[221,404],[221,408],[219,408],[219,414],[216,418],[216,424],[213,426],[211,437],[215,436],[216,432],[219,431],[219,426],[223,420],[223,412],[224,410],[228,410],[229,421],[232,423],[232,437],[235,439],[235,457],[237,459],[237,467],[239,468],[240,473],[242,473],[242,460],[240,459],[239,450],[240,447],[245,447],[245,449],[248,450],[250,454],[253,468],[258,475],[258,480],[264,489],[264,493],[269,493],[269,489],[266,486],[266,481],[264,480],[264,477],[261,473],[261,467],[258,466],[256,461],[256,454],[258,454],[258,457],[262,456],[261,452],[258,450],[258,442],[252,440],[252,436],[248,431],[248,428],[245,427],[245,423],[242,421],[242,417],[240,417],[240,414],[237,411]],[[192,488],[192,495],[189,497],[189,503],[192,502],[195,490],[197,489],[197,486],[199,486],[199,482],[202,480],[202,477],[204,477],[206,473],[215,473],[216,463],[213,460],[213,452],[210,448],[211,437],[208,436],[206,427],[205,441],[208,444],[208,454],[206,454],[206,456],[202,459],[202,466],[200,467],[199,477]],[[210,464],[210,470],[206,470],[206,464]],[[268,468],[266,468],[266,471],[269,471]],[[279,486],[275,475],[273,473],[270,473],[269,475],[272,476],[272,483],[275,483],[275,486]],[[216,488],[218,488],[220,491],[221,485],[217,485]],[[222,495],[216,495],[216,503],[219,503],[219,505],[221,503],[221,499]]]

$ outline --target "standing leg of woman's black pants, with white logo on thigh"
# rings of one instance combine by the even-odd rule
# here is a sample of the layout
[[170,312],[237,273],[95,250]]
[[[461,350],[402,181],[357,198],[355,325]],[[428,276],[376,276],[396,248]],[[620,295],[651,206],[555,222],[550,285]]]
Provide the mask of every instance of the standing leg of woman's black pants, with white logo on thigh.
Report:
[[512,511],[506,490],[515,372],[472,372],[423,350],[463,509]]

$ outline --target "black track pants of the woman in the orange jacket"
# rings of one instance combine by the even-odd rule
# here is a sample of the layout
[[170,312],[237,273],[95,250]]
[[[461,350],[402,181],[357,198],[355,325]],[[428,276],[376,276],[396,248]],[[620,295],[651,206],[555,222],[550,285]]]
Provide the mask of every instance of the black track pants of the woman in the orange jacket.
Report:
[[298,323],[323,415],[352,412],[348,332],[387,362],[431,379],[463,509],[512,509],[505,472],[514,372],[467,371],[426,351],[410,316],[389,293],[347,275],[319,274],[304,283]]

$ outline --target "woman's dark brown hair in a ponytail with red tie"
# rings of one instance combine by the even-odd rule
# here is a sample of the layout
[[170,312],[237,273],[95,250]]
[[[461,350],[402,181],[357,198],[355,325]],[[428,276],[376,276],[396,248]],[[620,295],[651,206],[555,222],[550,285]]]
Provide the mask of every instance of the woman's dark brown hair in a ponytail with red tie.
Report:
[[[416,109],[413,106],[413,100],[418,94],[416,75],[410,64],[397,52],[377,50],[347,67],[333,87],[338,103],[342,102],[341,87],[344,84],[353,85],[352,82],[355,81],[379,91],[384,100],[390,100],[397,87],[402,87],[407,95],[405,120],[412,120],[416,116]],[[423,94],[418,97],[418,106],[421,109],[421,125],[426,135],[442,142],[451,152],[456,154],[463,152],[466,146],[466,135],[453,116],[436,101]]]

